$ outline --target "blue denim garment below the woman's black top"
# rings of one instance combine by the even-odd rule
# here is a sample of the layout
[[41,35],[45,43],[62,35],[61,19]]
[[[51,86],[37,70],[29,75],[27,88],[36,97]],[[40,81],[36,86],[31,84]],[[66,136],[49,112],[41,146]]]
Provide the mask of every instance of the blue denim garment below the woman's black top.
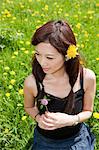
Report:
[[94,142],[95,136],[84,123],[79,133],[62,140],[46,138],[35,128],[31,150],[94,150]]

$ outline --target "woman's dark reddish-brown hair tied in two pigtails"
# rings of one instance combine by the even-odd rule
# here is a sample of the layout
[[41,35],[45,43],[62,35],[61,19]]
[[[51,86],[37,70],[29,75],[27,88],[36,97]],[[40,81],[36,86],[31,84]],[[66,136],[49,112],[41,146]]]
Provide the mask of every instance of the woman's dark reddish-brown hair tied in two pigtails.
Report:
[[[64,57],[67,53],[69,45],[76,45],[75,36],[71,30],[71,27],[66,21],[63,20],[49,21],[38,28],[32,37],[31,43],[36,46],[40,42],[49,42]],[[69,76],[71,88],[73,88],[79,72],[79,57],[76,56],[75,58],[71,58],[70,60],[65,61],[64,64],[66,72]],[[45,73],[43,72],[35,56],[32,62],[32,73],[36,80],[39,82],[43,81]],[[65,112],[71,113],[73,112],[73,108],[74,94],[72,92],[69,96],[69,101]]]

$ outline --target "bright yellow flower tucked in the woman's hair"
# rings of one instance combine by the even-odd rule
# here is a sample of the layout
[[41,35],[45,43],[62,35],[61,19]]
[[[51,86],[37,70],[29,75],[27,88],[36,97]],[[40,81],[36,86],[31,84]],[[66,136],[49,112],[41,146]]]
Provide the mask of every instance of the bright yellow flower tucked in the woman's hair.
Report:
[[77,54],[77,47],[75,45],[70,45],[67,50],[67,59],[75,58]]

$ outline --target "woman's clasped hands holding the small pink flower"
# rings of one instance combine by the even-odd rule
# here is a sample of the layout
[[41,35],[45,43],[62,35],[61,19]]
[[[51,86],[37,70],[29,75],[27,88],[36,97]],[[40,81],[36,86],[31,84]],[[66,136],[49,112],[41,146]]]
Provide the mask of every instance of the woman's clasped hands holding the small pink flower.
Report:
[[75,115],[73,116],[59,112],[45,112],[45,114],[38,118],[37,122],[38,126],[42,129],[54,130],[65,126],[72,126],[75,119]]

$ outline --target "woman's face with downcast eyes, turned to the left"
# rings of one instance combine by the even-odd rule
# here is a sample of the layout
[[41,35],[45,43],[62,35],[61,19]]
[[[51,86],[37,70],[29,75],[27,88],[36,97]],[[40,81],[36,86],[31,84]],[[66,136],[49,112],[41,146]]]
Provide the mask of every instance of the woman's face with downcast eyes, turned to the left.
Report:
[[64,56],[50,43],[36,46],[36,59],[46,74],[53,74],[64,68]]

